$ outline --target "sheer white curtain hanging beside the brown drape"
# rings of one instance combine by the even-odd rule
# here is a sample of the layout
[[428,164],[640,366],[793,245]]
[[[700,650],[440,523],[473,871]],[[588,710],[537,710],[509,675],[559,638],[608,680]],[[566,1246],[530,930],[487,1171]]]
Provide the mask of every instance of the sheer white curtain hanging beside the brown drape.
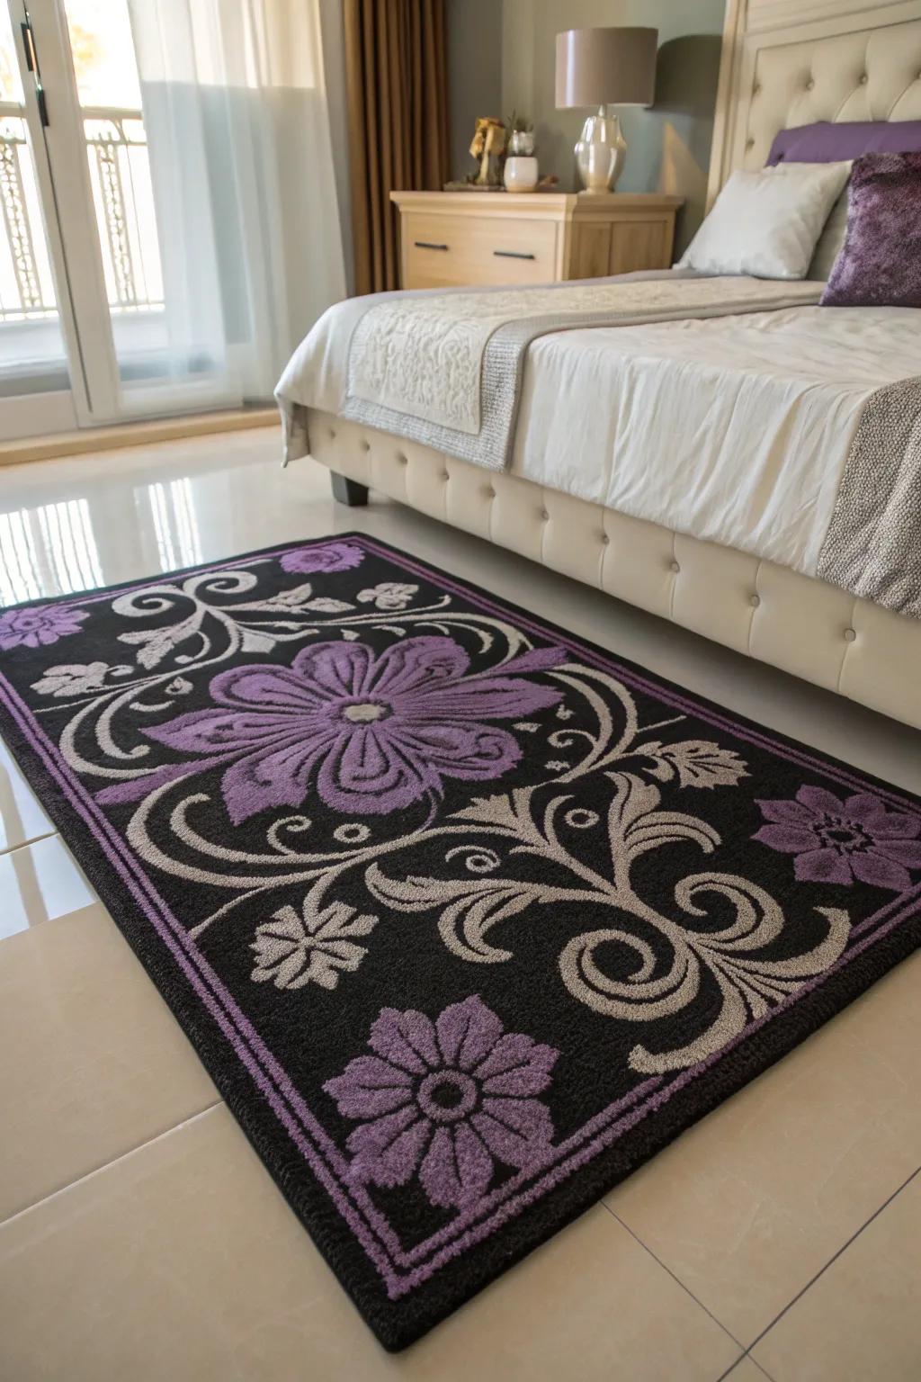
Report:
[[130,0],[170,384],[271,399],[345,294],[318,0]]

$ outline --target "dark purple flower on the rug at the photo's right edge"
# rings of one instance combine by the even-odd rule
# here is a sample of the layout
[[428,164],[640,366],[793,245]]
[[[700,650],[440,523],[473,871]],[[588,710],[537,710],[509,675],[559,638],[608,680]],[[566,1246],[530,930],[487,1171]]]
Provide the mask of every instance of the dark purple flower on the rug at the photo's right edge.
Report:
[[793,802],[758,802],[769,821],[754,836],[795,854],[794,873],[808,883],[853,879],[904,893],[909,869],[921,868],[921,817],[888,811],[878,796],[857,792],[841,802],[820,786],[801,786]]

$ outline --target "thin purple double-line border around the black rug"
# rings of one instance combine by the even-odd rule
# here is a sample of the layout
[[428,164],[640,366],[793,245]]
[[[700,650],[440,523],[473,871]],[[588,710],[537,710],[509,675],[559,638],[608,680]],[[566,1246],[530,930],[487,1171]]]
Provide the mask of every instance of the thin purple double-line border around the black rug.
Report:
[[[556,638],[556,641],[568,647],[572,652],[576,652],[584,661],[591,661],[594,662],[595,666],[606,672],[614,670],[628,684],[648,690],[659,699],[664,699],[675,705],[677,708],[689,710],[690,713],[699,716],[700,719],[704,719],[708,723],[712,723],[714,726],[725,728],[729,732],[747,739],[748,742],[753,742],[755,745],[761,742],[770,752],[779,753],[779,756],[787,757],[790,761],[806,763],[811,767],[816,768],[823,775],[840,781],[842,785],[851,785],[855,788],[870,786],[870,784],[866,784],[859,777],[849,774],[845,768],[838,768],[835,764],[828,764],[822,760],[813,759],[808,753],[798,752],[788,745],[777,744],[769,738],[768,732],[765,734],[758,734],[757,731],[747,732],[747,727],[739,726],[737,721],[733,723],[730,720],[722,719],[715,710],[711,712],[708,706],[701,706],[690,699],[685,699],[678,692],[672,691],[668,685],[646,681],[643,677],[638,676],[631,669],[623,668],[617,662],[613,654],[594,652],[592,648],[585,647],[583,643],[574,638],[569,638],[565,634],[558,634],[556,630],[547,630],[547,627],[541,626],[540,623],[532,622],[529,616],[526,614],[522,614],[521,611],[516,611],[515,615],[511,615],[503,607],[496,605],[487,597],[481,596],[475,589],[454,582],[446,572],[440,572],[438,569],[432,571],[431,568],[423,564],[417,564],[416,561],[413,561],[411,557],[403,553],[398,553],[384,545],[380,545],[373,538],[369,538],[365,533],[349,532],[347,535],[326,535],[323,538],[304,539],[291,546],[282,546],[271,549],[268,551],[262,549],[253,554],[242,554],[210,565],[184,568],[180,572],[163,572],[162,575],[155,575],[152,578],[148,578],[146,580],[138,582],[137,585],[131,586],[108,587],[98,593],[95,591],[86,593],[84,596],[73,596],[65,598],[58,597],[55,603],[58,604],[87,604],[91,601],[98,603],[101,600],[110,598],[113,591],[117,591],[119,594],[133,593],[137,590],[144,590],[156,586],[159,582],[175,579],[177,575],[195,574],[195,572],[209,574],[211,571],[224,571],[233,568],[235,565],[239,565],[243,561],[253,564],[260,560],[273,560],[280,557],[284,551],[298,550],[311,543],[341,540],[341,538],[348,538],[349,540],[356,540],[362,543],[363,546],[371,549],[385,560],[389,560],[394,564],[403,567],[405,569],[424,575],[432,583],[436,585],[440,583],[443,587],[452,590],[456,594],[463,596],[463,598],[469,600],[471,603],[479,605],[481,608],[489,609],[490,612],[501,615],[503,618],[514,618],[519,626],[525,627],[530,633],[536,633],[541,638],[552,636],[554,638]],[[51,598],[54,600],[54,597]],[[29,601],[29,603],[35,604],[41,601]],[[206,1009],[215,1020],[224,1036],[228,1039],[233,1053],[237,1056],[240,1063],[249,1071],[250,1077],[253,1078],[254,1083],[265,1097],[273,1114],[279,1118],[286,1132],[297,1146],[298,1151],[301,1153],[301,1155],[304,1155],[304,1158],[311,1165],[311,1169],[318,1176],[318,1180],[323,1184],[323,1187],[333,1198],[337,1211],[340,1212],[342,1219],[348,1223],[349,1229],[365,1248],[369,1259],[377,1267],[378,1273],[387,1281],[388,1295],[391,1296],[391,1299],[395,1299],[396,1296],[405,1295],[410,1289],[414,1289],[423,1281],[428,1280],[428,1277],[431,1277],[432,1273],[436,1271],[440,1266],[443,1266],[447,1260],[467,1251],[467,1248],[475,1245],[483,1237],[493,1233],[497,1227],[501,1226],[501,1223],[504,1223],[511,1216],[521,1212],[521,1209],[526,1208],[529,1204],[533,1204],[536,1200],[541,1198],[555,1184],[559,1184],[562,1180],[573,1175],[574,1171],[577,1171],[585,1162],[591,1161],[605,1147],[616,1142],[624,1132],[635,1126],[642,1118],[648,1117],[648,1114],[653,1113],[656,1108],[660,1108],[664,1103],[667,1103],[668,1099],[671,1099],[671,1096],[678,1089],[684,1088],[692,1079],[699,1078],[707,1068],[710,1068],[710,1066],[715,1064],[718,1060],[722,1060],[730,1050],[743,1043],[751,1035],[751,1032],[764,1027],[775,1016],[777,1016],[787,1007],[793,1006],[793,1003],[797,1002],[799,998],[802,998],[804,994],[813,991],[815,988],[819,988],[826,981],[826,978],[830,977],[835,970],[851,963],[851,960],[856,955],[862,954],[867,947],[875,944],[878,938],[888,934],[902,920],[913,915],[914,914],[913,902],[915,900],[913,894],[921,891],[921,883],[915,884],[911,893],[904,893],[900,897],[893,898],[891,902],[884,904],[884,907],[880,908],[878,912],[873,914],[870,918],[866,918],[862,923],[859,923],[853,929],[852,936],[869,930],[870,926],[877,925],[878,922],[882,920],[882,916],[886,911],[898,908],[898,915],[889,918],[884,926],[877,926],[877,930],[874,931],[873,936],[867,936],[859,945],[851,947],[848,952],[835,962],[835,965],[830,966],[830,969],[826,970],[822,976],[817,976],[811,983],[802,985],[799,990],[797,990],[795,994],[790,995],[775,1009],[772,1009],[770,1013],[750,1023],[744,1028],[744,1031],[739,1034],[739,1036],[728,1046],[721,1048],[719,1052],[715,1052],[706,1061],[699,1063],[690,1070],[684,1071],[675,1079],[668,1081],[664,1089],[661,1088],[663,1077],[659,1077],[652,1081],[645,1081],[643,1083],[638,1085],[634,1090],[630,1092],[628,1096],[624,1096],[614,1104],[610,1104],[606,1110],[602,1110],[599,1114],[594,1115],[594,1118],[588,1119],[588,1122],[584,1124],[577,1133],[570,1135],[570,1137],[566,1139],[565,1143],[554,1148],[556,1157],[559,1157],[559,1154],[562,1153],[565,1158],[563,1161],[556,1161],[556,1164],[550,1169],[547,1168],[547,1165],[544,1165],[540,1169],[533,1169],[527,1177],[521,1177],[521,1176],[512,1177],[512,1182],[507,1183],[507,1186],[503,1186],[500,1191],[493,1191],[492,1197],[486,1197],[486,1200],[481,1205],[471,1209],[467,1216],[463,1216],[468,1220],[476,1220],[481,1215],[486,1213],[487,1218],[485,1220],[482,1220],[481,1223],[474,1222],[471,1227],[465,1227],[463,1222],[454,1220],[452,1224],[447,1224],[445,1229],[439,1230],[438,1234],[432,1234],[428,1240],[425,1240],[425,1242],[418,1244],[407,1253],[405,1249],[399,1248],[396,1236],[392,1233],[391,1226],[387,1223],[387,1220],[382,1219],[382,1216],[376,1209],[373,1202],[370,1202],[369,1197],[362,1195],[362,1198],[369,1200],[367,1208],[373,1211],[373,1218],[381,1220],[381,1223],[378,1224],[369,1223],[367,1219],[365,1219],[362,1215],[362,1208],[358,1204],[352,1206],[348,1197],[355,1195],[356,1187],[352,1183],[345,1182],[342,1176],[342,1169],[347,1166],[347,1164],[341,1157],[341,1154],[338,1153],[338,1148],[336,1148],[336,1144],[331,1142],[331,1139],[329,1139],[329,1135],[324,1132],[322,1125],[313,1118],[313,1115],[311,1115],[309,1110],[304,1104],[302,1097],[297,1095],[297,1090],[294,1089],[290,1077],[280,1067],[278,1059],[265,1046],[262,1038],[253,1028],[249,1019],[246,1019],[246,1016],[240,1012],[240,1009],[237,1007],[236,1002],[229,995],[229,992],[224,988],[217,974],[211,970],[211,966],[209,965],[204,955],[199,951],[195,943],[191,941],[188,933],[184,930],[180,922],[171,915],[163,900],[159,897],[152,880],[146,876],[146,873],[139,867],[134,855],[131,855],[130,851],[127,851],[124,842],[120,839],[112,824],[105,818],[105,815],[97,807],[95,802],[93,802],[93,799],[88,796],[88,793],[83,788],[83,784],[79,782],[79,779],[76,779],[75,777],[72,777],[69,767],[59,761],[58,750],[51,744],[51,741],[48,741],[48,738],[44,735],[44,731],[41,730],[40,724],[32,716],[30,709],[23,701],[21,701],[17,691],[11,687],[11,684],[6,680],[6,677],[0,677],[0,698],[6,702],[7,709],[10,710],[12,719],[18,723],[21,731],[23,732],[33,752],[36,752],[36,756],[43,759],[47,771],[54,778],[57,778],[59,785],[64,788],[65,795],[68,796],[73,810],[83,818],[84,824],[87,824],[88,829],[91,831],[97,842],[101,843],[101,847],[104,849],[104,853],[106,854],[109,862],[115,867],[116,872],[122,876],[123,882],[126,883],[131,894],[139,902],[141,909],[153,923],[155,930],[157,931],[157,934],[160,934],[162,940],[173,954],[180,969],[185,974],[186,980],[199,994]],[[871,789],[880,793],[880,786],[877,784],[873,784]],[[911,806],[913,810],[917,810],[914,803],[907,802],[898,793],[888,792],[886,795],[889,796],[891,800],[898,802],[900,804]],[[102,842],[99,831],[87,818],[86,810],[81,806],[81,797],[84,799],[86,806],[90,807],[93,815],[97,817],[98,821],[101,822],[104,832],[109,833],[113,837],[116,850],[113,850],[109,844]],[[122,853],[124,858],[119,861],[116,853]],[[134,869],[134,872],[138,875],[137,879],[131,878],[131,869]],[[144,897],[145,890],[148,893],[148,897]],[[157,915],[156,911],[157,908],[162,915]],[[199,973],[196,973],[196,969],[191,963],[188,955],[184,952],[184,948],[189,951],[189,954],[192,955],[195,963],[197,965]],[[209,991],[207,987],[209,983],[211,985],[211,991]],[[221,1003],[226,1010],[221,1007]],[[250,1045],[247,1045],[247,1042]],[[255,1043],[255,1049],[251,1049],[251,1043]],[[260,1067],[260,1060],[262,1061],[262,1066],[268,1067],[266,1070]],[[272,1079],[275,1081],[275,1086],[272,1083]],[[646,1093],[649,1095],[649,1099],[645,1099]],[[621,1113],[630,1104],[635,1104],[638,1099],[641,1100],[641,1103],[637,1107],[630,1108],[630,1111],[626,1113],[623,1117],[616,1118],[613,1124],[608,1122],[610,1117],[616,1115],[617,1113]],[[291,1110],[286,1108],[284,1103],[291,1104]],[[291,1117],[291,1113],[297,1113],[301,1121],[304,1121],[307,1115],[309,1124],[315,1125],[313,1136],[319,1133],[322,1136],[322,1140],[329,1143],[326,1155],[330,1155],[331,1153],[333,1155],[330,1157],[330,1159],[338,1162],[338,1165],[336,1166],[326,1165],[323,1154],[319,1153],[319,1148],[312,1146],[309,1137],[304,1136],[301,1128],[298,1128],[297,1122]],[[608,1122],[608,1126],[603,1126],[605,1122]],[[601,1130],[598,1130],[599,1124],[602,1124]],[[587,1136],[591,1139],[590,1142],[584,1142]],[[570,1155],[566,1155],[566,1148],[572,1147],[572,1143],[576,1139],[579,1139],[579,1150],[573,1150]],[[539,1176],[540,1179],[536,1180],[529,1190],[521,1191],[519,1194],[512,1194],[510,1198],[508,1193],[510,1186],[511,1190],[515,1190],[515,1182],[519,1182],[522,1179],[533,1179],[533,1176]],[[334,1182],[333,1184],[330,1184],[330,1179],[333,1179]],[[342,1191],[345,1191],[345,1194],[342,1194]],[[503,1195],[504,1204],[501,1204],[500,1208],[497,1208],[494,1212],[490,1213],[492,1209],[490,1201],[494,1202],[496,1198],[501,1195],[501,1191],[507,1191]],[[359,1215],[358,1222],[353,1209],[358,1211]],[[369,1240],[367,1234],[367,1230],[370,1229],[371,1233],[376,1231],[380,1236],[380,1229],[382,1226],[385,1226],[389,1230],[389,1233],[387,1233],[387,1238],[389,1238],[391,1242],[389,1244],[381,1242],[380,1245],[384,1247],[384,1251],[391,1258],[395,1266],[396,1265],[400,1265],[403,1267],[410,1266],[413,1260],[418,1260],[420,1255],[431,1253],[432,1249],[438,1245],[439,1240],[447,1238],[453,1241],[449,1241],[447,1245],[442,1248],[442,1251],[438,1252],[434,1258],[428,1258],[428,1260],[424,1262],[421,1266],[416,1266],[413,1271],[405,1273],[402,1276],[394,1276],[394,1273],[388,1270],[389,1263],[387,1263],[387,1259],[381,1260],[378,1245],[373,1241],[373,1238]],[[394,1252],[391,1245],[396,1247],[398,1252]]]

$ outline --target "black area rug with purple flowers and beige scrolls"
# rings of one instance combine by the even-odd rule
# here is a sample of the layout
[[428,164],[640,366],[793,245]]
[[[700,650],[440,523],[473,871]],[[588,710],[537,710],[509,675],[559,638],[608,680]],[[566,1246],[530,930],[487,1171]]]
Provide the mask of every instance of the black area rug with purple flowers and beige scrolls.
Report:
[[920,940],[918,800],[365,536],[8,609],[0,673],[391,1349]]

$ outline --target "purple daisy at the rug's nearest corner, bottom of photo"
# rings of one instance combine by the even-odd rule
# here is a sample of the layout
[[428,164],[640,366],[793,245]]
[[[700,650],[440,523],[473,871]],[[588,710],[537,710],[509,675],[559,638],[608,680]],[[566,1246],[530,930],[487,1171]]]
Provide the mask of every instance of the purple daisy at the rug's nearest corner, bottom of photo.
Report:
[[385,1007],[371,1025],[373,1056],[351,1060],[323,1089],[349,1135],[349,1175],[384,1187],[418,1172],[434,1205],[475,1204],[496,1162],[527,1171],[547,1155],[554,1124],[536,1096],[559,1056],[552,1046],[504,1032],[475,995],[432,1023],[424,1013]]

